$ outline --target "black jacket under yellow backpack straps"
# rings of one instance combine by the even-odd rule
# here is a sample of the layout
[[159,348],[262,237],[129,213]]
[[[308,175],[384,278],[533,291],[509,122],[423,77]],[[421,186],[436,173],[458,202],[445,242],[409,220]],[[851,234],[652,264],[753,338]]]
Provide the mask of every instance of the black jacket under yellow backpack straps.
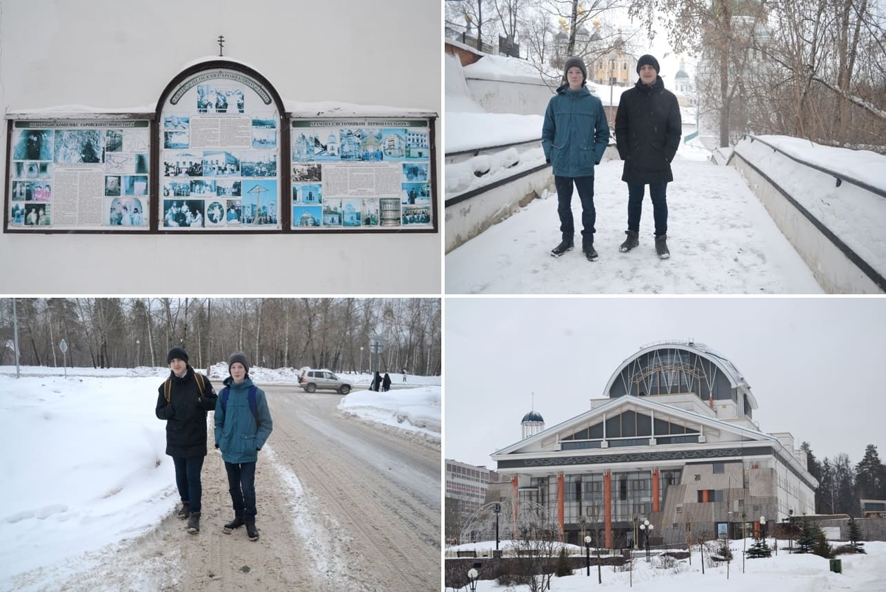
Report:
[[[197,381],[202,379],[203,395]],[[167,385],[168,381],[168,385]],[[166,401],[166,391],[170,401]],[[194,376],[188,365],[183,378],[170,370],[169,378],[159,386],[157,417],[167,420],[167,455],[206,456],[206,411],[215,409],[218,395],[209,379]]]

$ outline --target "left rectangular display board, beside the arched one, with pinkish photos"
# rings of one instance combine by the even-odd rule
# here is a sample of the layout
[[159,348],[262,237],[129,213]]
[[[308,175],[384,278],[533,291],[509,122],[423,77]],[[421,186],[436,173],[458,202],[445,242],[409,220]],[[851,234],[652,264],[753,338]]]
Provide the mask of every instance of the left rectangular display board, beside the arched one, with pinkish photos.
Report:
[[13,121],[9,226],[148,230],[150,121]]

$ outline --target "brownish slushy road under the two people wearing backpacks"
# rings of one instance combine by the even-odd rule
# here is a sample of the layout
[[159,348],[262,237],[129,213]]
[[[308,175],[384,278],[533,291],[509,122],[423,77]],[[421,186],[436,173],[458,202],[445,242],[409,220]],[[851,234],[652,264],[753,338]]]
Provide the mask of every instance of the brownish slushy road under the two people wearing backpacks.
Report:
[[343,417],[338,394],[263,388],[274,432],[256,470],[259,541],[244,528],[223,534],[233,510],[213,450],[203,468],[200,534],[169,517],[71,589],[439,587],[439,443]]

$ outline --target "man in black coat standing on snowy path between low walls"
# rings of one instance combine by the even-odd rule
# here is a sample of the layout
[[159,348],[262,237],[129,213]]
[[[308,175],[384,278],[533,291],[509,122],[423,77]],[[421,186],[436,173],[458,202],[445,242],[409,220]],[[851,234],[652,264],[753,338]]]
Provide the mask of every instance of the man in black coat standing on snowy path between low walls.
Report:
[[627,253],[640,244],[643,192],[649,185],[656,225],[656,253],[667,248],[667,184],[673,181],[671,161],[680,147],[680,105],[658,75],[658,60],[649,54],[637,60],[640,79],[622,93],[615,117],[618,156],[625,161],[621,180],[627,183],[627,238],[618,250]]

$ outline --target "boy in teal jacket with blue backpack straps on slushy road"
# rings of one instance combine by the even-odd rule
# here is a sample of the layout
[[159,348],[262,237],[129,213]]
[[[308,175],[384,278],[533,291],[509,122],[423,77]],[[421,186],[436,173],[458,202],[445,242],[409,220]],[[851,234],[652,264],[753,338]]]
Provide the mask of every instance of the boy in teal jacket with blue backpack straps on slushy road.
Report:
[[268,441],[274,425],[265,393],[249,378],[249,361],[243,352],[234,352],[228,359],[230,376],[215,404],[215,447],[221,448],[221,459],[228,472],[230,499],[234,519],[224,532],[246,525],[250,541],[258,541],[255,527],[255,463],[259,450]]

